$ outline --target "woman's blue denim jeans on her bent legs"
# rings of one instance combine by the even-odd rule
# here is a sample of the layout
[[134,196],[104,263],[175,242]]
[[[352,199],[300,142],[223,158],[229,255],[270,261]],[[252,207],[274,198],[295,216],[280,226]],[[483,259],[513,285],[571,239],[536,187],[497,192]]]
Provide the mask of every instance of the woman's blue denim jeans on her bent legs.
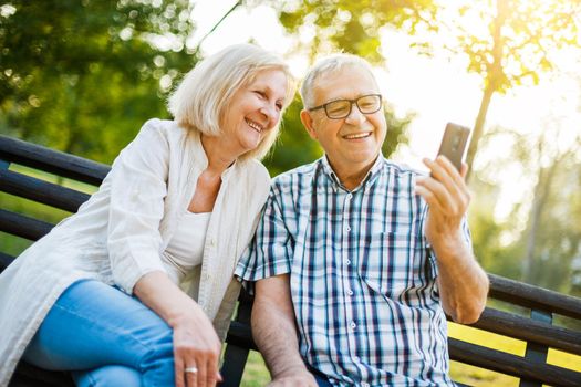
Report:
[[138,300],[98,281],[59,297],[23,358],[71,370],[77,386],[174,386],[173,331]]

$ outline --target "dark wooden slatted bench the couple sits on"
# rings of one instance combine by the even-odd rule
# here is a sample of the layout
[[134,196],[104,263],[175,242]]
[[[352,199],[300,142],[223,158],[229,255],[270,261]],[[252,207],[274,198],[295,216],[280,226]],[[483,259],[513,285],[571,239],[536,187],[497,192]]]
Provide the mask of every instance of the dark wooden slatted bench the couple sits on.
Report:
[[[28,167],[28,168],[21,168]],[[32,168],[32,170],[30,169]],[[22,170],[25,170],[22,171]],[[89,195],[76,189],[45,181],[38,176],[52,174],[60,178],[98,186],[110,167],[81,157],[51,150],[38,145],[0,136],[0,195],[11,195],[53,208],[74,212]],[[2,197],[0,196],[0,202]],[[1,206],[0,231],[37,240],[53,224],[17,213]],[[0,270],[14,259],[0,249]],[[581,373],[547,364],[549,348],[581,355],[581,299],[563,295],[489,274],[490,303],[506,305],[509,312],[487,307],[474,327],[517,338],[526,343],[523,356],[449,338],[453,360],[491,369],[520,378],[520,386],[581,386]],[[251,297],[242,293],[237,315],[227,337],[222,386],[239,386],[250,349],[256,349],[250,332]],[[520,311],[516,314],[512,311]],[[527,313],[522,313],[527,311]],[[568,325],[553,324],[557,315],[566,316]],[[7,318],[7,316],[2,316]],[[559,317],[561,318],[561,317]],[[581,360],[580,360],[581,363]],[[68,373],[46,372],[21,362],[10,386],[72,386]],[[463,384],[459,384],[463,386]]]

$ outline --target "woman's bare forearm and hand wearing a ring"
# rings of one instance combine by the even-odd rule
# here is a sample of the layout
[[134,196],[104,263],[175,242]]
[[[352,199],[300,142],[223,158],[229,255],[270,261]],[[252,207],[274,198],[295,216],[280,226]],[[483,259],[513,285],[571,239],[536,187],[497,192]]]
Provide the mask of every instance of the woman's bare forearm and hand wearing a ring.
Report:
[[141,278],[133,292],[174,331],[176,386],[206,387],[221,381],[220,339],[201,307],[160,271]]

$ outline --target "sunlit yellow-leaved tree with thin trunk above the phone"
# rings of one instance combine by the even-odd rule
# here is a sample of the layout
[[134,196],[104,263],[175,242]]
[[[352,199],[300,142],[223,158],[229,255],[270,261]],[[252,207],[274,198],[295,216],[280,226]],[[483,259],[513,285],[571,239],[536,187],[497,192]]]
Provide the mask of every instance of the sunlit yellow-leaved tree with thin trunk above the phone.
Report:
[[[483,98],[467,154],[473,165],[478,142],[485,132],[486,115],[495,93],[522,84],[537,84],[551,70],[554,55],[568,46],[579,48],[581,1],[496,0],[465,1],[448,32],[456,43],[448,49],[468,56],[468,71],[483,79]],[[488,27],[483,34],[475,21]]]

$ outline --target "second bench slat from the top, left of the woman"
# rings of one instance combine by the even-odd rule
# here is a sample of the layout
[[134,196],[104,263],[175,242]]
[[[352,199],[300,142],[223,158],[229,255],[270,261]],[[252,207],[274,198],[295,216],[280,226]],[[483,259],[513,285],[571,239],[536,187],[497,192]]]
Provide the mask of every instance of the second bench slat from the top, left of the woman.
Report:
[[90,198],[87,194],[3,169],[0,169],[0,190],[70,212],[76,212]]

